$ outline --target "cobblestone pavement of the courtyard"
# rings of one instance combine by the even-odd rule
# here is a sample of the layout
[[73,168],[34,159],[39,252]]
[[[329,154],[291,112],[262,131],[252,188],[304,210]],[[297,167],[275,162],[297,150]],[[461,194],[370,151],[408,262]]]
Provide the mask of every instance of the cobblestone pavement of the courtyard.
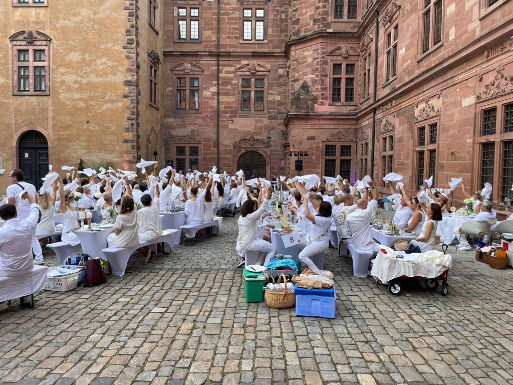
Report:
[[245,302],[235,238],[226,218],[220,236],[149,264],[135,255],[107,284],[13,303],[0,312],[0,383],[513,383],[511,269],[451,246],[447,297],[417,282],[392,297],[330,249],[337,318],[306,318]]

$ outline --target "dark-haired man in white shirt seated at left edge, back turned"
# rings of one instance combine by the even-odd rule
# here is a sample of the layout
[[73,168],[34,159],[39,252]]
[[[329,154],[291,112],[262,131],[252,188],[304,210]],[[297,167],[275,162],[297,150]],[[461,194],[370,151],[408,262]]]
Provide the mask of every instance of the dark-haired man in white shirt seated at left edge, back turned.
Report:
[[0,227],[0,277],[16,277],[26,274],[34,267],[32,239],[35,235],[39,209],[32,195],[25,192],[20,199],[29,204],[29,214],[19,218],[16,206],[0,206],[0,218],[5,221]]

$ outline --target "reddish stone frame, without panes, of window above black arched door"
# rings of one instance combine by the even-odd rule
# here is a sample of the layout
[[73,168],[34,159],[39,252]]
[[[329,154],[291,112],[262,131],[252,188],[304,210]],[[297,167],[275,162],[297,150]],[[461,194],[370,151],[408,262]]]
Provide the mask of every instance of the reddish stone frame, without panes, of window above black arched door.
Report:
[[[15,96],[50,95],[50,42],[51,38],[39,31],[19,31],[9,37],[12,52],[12,94]],[[18,51],[29,51],[29,91],[18,90]],[[45,61],[35,62],[34,51],[45,51]],[[34,91],[34,67],[45,67],[45,91]]]

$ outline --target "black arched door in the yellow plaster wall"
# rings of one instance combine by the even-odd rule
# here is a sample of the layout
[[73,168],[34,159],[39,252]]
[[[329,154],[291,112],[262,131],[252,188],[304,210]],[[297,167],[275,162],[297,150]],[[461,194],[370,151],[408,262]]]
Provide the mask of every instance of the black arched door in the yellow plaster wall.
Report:
[[41,132],[30,130],[19,138],[18,165],[25,174],[25,182],[40,188],[41,178],[48,173],[48,141]]

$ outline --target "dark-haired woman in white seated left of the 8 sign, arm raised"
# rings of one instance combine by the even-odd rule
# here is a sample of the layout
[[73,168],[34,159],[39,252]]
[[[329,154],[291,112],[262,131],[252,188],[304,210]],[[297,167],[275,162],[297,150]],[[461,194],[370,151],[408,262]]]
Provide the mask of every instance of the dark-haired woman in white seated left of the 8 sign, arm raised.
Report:
[[[269,260],[274,257],[276,247],[271,243],[264,241],[258,237],[259,233],[259,220],[269,207],[269,198],[271,197],[272,189],[267,189],[265,192],[265,199],[262,206],[258,207],[256,200],[248,199],[241,207],[241,216],[239,217],[239,235],[237,242],[247,251],[260,252],[257,264],[265,265]],[[272,225],[268,225],[272,228]],[[265,254],[265,260],[264,260]]]

